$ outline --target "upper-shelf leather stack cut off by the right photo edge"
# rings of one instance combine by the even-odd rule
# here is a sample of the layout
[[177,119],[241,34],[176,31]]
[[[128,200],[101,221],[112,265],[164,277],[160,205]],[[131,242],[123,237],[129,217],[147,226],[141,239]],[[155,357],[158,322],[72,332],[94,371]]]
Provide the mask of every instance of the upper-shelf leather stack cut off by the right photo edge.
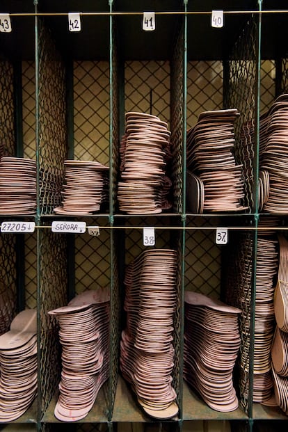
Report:
[[[288,211],[288,95],[281,95],[260,118],[259,166],[269,173],[269,198],[263,210],[287,214]],[[260,171],[260,172],[261,172]]]

